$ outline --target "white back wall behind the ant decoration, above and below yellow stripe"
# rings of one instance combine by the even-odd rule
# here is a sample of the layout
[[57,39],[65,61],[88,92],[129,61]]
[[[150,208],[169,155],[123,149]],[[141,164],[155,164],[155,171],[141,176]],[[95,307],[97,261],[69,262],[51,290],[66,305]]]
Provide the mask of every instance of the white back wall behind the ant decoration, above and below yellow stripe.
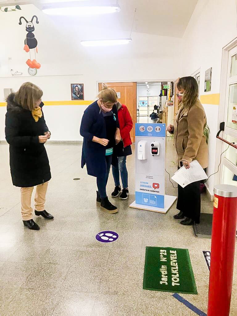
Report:
[[[88,48],[80,45],[80,40],[94,36],[97,32],[94,19],[88,20],[88,25],[79,32],[70,32],[76,26],[64,23],[55,24],[48,15],[44,15],[33,5],[21,6],[21,11],[14,14],[2,14],[0,29],[0,102],[3,102],[3,88],[13,88],[15,91],[23,82],[31,81],[42,88],[43,100],[71,100],[70,84],[84,83],[85,100],[94,100],[97,94],[97,82],[101,81],[149,81],[177,78],[181,71],[178,64],[180,40],[177,38],[133,33],[129,45],[116,47]],[[29,54],[23,51],[26,36],[25,22],[19,25],[19,17],[24,15],[31,19],[37,15],[39,24],[35,23],[35,37],[38,40],[39,53],[37,61],[41,64],[37,75],[32,77],[27,73],[25,64]],[[66,18],[65,18],[66,19]],[[58,20],[57,20],[58,21]],[[65,20],[66,21],[66,20]],[[67,19],[68,21],[68,19]],[[93,21],[95,21],[94,24]],[[66,28],[67,27],[67,28]],[[74,28],[73,28],[74,27]],[[111,31],[99,31],[108,38],[127,37],[127,34]],[[14,40],[9,38],[14,34]],[[172,41],[174,50],[169,43]],[[8,57],[12,61],[8,62]],[[12,78],[9,68],[22,71],[20,78]],[[76,76],[72,76],[76,75]],[[44,113],[52,140],[82,140],[79,127],[86,106],[45,106]],[[0,107],[0,140],[4,139],[5,107]]]

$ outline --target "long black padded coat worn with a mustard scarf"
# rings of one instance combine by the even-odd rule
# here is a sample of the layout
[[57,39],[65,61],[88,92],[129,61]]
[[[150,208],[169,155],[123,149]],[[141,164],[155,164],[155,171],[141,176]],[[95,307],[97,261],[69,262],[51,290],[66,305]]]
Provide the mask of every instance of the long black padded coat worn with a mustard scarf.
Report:
[[[19,187],[31,187],[51,179],[49,160],[39,136],[48,131],[44,114],[38,122],[29,110],[14,101],[14,93],[7,98],[6,140],[9,143],[12,183]],[[40,107],[44,105],[41,102]]]

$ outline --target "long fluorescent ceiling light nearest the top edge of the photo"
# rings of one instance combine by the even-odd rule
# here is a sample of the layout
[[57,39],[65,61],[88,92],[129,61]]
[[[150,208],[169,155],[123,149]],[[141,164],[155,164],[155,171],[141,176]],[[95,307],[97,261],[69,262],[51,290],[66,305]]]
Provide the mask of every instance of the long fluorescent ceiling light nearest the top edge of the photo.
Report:
[[116,13],[120,11],[119,5],[105,5],[105,6],[84,6],[84,7],[44,7],[42,11],[51,15],[98,15]]

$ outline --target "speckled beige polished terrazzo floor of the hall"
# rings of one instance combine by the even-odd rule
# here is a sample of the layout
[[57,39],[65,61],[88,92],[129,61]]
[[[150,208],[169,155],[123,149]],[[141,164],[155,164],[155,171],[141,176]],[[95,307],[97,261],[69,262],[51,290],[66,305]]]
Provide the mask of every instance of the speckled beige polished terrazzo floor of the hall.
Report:
[[[188,248],[198,295],[181,294],[207,312],[209,271],[202,250],[209,239],[197,239],[192,227],[167,214],[134,210],[135,155],[128,158],[130,196],[113,200],[119,213],[110,215],[95,202],[95,178],[80,168],[82,145],[47,144],[52,180],[46,210],[53,221],[35,218],[40,231],[23,227],[19,188],[12,186],[8,145],[0,144],[0,315],[1,316],[140,316],[196,315],[171,293],[143,290],[146,246]],[[167,140],[166,167],[176,170],[172,140]],[[73,180],[80,178],[80,180]],[[108,193],[113,190],[112,174]],[[166,193],[176,189],[166,176]],[[203,196],[203,212],[212,204]],[[102,244],[95,235],[119,233],[116,242]],[[231,316],[237,315],[237,252],[235,254]]]

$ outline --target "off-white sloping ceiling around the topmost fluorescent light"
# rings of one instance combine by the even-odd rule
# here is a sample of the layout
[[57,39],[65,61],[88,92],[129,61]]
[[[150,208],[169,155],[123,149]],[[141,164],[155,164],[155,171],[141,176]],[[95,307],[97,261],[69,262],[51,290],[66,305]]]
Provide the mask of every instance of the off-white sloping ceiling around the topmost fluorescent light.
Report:
[[[53,1],[55,2],[55,0]],[[59,1],[61,2],[62,0]],[[115,30],[116,32],[122,31],[123,36],[126,33],[127,37],[129,37],[134,10],[137,8],[133,32],[182,37],[197,1],[198,0],[118,0],[121,7],[119,13],[96,17],[51,16],[51,18],[56,23],[62,23],[63,20],[65,28],[74,25],[78,30],[80,27],[92,27],[94,26],[92,24],[96,21],[96,28],[108,28],[110,31]],[[41,9],[45,3],[50,2],[50,0],[0,0],[0,6],[5,7],[16,4],[33,3]],[[88,0],[75,1],[74,3],[78,5],[103,5],[116,4],[116,0]],[[23,15],[23,8],[21,12]]]

